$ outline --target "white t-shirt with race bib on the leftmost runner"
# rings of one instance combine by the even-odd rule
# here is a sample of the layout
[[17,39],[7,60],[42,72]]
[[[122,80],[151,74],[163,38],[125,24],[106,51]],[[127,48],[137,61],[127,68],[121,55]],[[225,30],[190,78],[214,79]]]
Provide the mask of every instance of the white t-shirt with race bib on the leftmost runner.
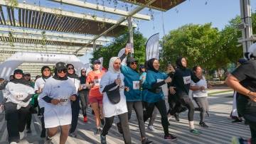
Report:
[[[14,84],[9,82],[5,87],[4,98],[7,99],[6,102],[13,102],[14,104],[19,104],[21,101],[26,99],[28,94],[35,94],[33,87],[28,87],[24,84]],[[29,99],[31,101],[31,99]],[[26,103],[29,104],[29,101]]]

